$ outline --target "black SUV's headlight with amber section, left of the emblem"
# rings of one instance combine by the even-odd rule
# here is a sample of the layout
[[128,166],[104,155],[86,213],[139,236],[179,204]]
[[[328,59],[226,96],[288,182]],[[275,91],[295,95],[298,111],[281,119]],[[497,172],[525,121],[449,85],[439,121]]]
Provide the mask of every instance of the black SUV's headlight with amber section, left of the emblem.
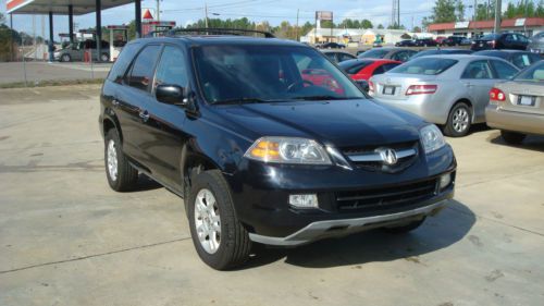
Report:
[[320,144],[312,139],[296,137],[259,138],[244,156],[263,162],[332,164]]

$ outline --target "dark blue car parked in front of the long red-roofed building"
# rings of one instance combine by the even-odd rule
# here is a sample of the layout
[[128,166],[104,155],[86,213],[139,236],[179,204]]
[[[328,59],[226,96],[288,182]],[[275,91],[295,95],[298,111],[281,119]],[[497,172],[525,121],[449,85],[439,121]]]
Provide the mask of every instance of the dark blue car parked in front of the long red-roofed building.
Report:
[[472,41],[470,47],[473,51],[489,50],[489,49],[514,49],[527,50],[529,39],[518,33],[502,33],[484,35]]

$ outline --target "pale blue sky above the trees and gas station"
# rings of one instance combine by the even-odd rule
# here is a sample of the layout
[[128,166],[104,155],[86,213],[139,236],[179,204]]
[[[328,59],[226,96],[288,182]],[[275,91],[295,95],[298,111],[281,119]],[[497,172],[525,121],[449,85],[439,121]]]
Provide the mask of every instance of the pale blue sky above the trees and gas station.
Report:
[[[482,0],[479,0],[483,2]],[[515,1],[515,0],[511,0]],[[316,11],[332,11],[334,21],[344,19],[368,19],[374,26],[383,24],[387,26],[391,22],[392,0],[163,0],[161,1],[161,20],[175,21],[177,25],[186,25],[203,19],[205,3],[208,5],[209,17],[237,19],[248,17],[255,22],[269,21],[277,25],[282,21],[296,23],[297,10],[299,10],[299,23],[307,21],[313,23]],[[473,4],[473,0],[463,0],[465,4]],[[509,1],[503,1],[503,9]],[[412,25],[420,26],[424,16],[431,14],[434,0],[400,0],[400,23],[407,28]],[[141,1],[143,9],[150,8],[154,15],[156,0]],[[0,0],[0,12],[5,13],[5,0]],[[217,15],[219,14],[219,15]],[[472,15],[472,9],[466,10],[467,17]],[[119,25],[134,20],[134,4],[118,7],[102,12],[102,25]],[[41,22],[45,21],[44,30],[48,33],[47,16],[35,17],[36,35],[41,35]],[[95,26],[95,13],[74,16],[77,28]],[[67,16],[54,16],[53,28],[55,39],[59,33],[67,33]],[[14,15],[13,27],[32,35],[33,16]]]

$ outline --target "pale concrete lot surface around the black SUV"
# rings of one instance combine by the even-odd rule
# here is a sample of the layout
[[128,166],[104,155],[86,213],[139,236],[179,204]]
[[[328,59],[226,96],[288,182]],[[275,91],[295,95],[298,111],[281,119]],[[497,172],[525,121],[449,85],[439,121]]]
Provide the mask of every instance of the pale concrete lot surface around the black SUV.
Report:
[[198,258],[182,199],[111,191],[99,86],[0,90],[0,305],[544,305],[544,137],[449,138],[455,200],[411,234]]

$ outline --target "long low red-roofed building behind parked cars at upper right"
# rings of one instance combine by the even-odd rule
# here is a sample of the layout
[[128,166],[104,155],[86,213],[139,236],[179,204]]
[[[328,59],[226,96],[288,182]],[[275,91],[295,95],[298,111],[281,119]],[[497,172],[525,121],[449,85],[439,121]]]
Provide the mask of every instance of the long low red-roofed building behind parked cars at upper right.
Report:
[[[428,30],[436,36],[460,35],[466,37],[474,37],[493,33],[494,25],[494,20],[435,23],[430,24]],[[527,36],[531,37],[544,30],[544,19],[528,17],[503,20],[500,22],[500,30],[523,33]]]

